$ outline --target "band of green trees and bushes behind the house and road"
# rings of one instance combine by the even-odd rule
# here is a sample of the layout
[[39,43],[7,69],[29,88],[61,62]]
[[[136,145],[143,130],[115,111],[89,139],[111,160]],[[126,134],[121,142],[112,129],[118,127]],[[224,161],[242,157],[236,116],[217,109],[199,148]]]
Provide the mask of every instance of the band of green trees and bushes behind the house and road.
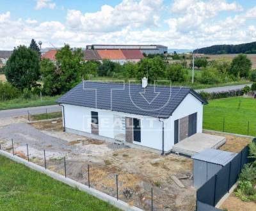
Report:
[[[8,82],[0,83],[0,90],[5,91],[0,99],[6,100],[31,95],[61,95],[86,79],[102,77],[141,80],[148,77],[148,82],[168,80],[174,84],[191,85],[191,69],[183,61],[169,63],[163,56],[146,56],[138,63],[127,62],[124,65],[110,60],[83,61],[82,49],[72,49],[64,45],[56,53],[56,61],[40,59],[40,49],[35,40],[26,47],[20,45],[13,50],[4,72]],[[195,66],[200,68],[194,80],[198,84],[218,84],[220,82],[239,81],[251,78],[256,81],[256,70],[246,55],[240,54],[232,61],[196,58]],[[10,92],[8,94],[8,92]]]

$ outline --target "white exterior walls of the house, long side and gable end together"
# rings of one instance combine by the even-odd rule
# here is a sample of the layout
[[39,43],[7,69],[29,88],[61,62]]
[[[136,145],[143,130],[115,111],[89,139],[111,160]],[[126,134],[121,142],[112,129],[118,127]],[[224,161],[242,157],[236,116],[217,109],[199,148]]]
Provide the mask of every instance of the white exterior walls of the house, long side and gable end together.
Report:
[[[141,142],[133,141],[134,144],[147,146],[157,150],[162,150],[162,122],[158,118],[140,116],[116,111],[93,109],[77,105],[63,104],[65,107],[65,127],[91,133],[91,111],[97,111],[99,116],[99,136],[114,138],[115,115],[138,118],[141,120]],[[196,132],[202,132],[203,105],[200,100],[189,94],[181,102],[179,107],[168,119],[164,119],[164,151],[172,150],[174,145],[174,121],[189,114],[197,112]]]

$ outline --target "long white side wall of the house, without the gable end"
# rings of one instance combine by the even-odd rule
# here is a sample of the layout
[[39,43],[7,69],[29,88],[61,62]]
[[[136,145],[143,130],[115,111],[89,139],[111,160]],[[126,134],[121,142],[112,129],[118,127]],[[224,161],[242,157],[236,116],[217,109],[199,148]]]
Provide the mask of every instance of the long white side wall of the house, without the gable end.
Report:
[[158,118],[93,109],[77,105],[63,105],[65,107],[65,127],[68,129],[92,133],[90,125],[91,111],[97,111],[99,116],[99,136],[113,139],[115,136],[115,115],[138,118],[141,120],[141,142],[133,141],[133,143],[162,150],[162,123],[159,122]]

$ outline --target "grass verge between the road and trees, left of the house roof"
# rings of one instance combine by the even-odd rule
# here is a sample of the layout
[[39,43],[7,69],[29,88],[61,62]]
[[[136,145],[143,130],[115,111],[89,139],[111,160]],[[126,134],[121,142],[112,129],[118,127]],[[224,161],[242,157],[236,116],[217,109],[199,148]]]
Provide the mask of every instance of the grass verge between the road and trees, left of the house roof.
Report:
[[0,110],[5,109],[19,109],[21,107],[35,107],[42,105],[54,105],[56,104],[56,100],[60,97],[60,95],[55,97],[42,97],[41,99],[33,98],[33,99],[24,99],[24,98],[15,98],[13,100],[6,100],[0,102]]

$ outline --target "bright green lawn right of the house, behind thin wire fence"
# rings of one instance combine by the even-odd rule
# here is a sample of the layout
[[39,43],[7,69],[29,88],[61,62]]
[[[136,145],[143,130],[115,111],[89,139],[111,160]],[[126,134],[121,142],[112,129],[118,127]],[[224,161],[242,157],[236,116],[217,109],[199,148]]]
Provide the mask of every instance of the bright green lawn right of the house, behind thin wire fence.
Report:
[[[224,120],[225,118],[225,120]],[[243,97],[209,100],[204,106],[204,129],[256,136],[256,99]]]

